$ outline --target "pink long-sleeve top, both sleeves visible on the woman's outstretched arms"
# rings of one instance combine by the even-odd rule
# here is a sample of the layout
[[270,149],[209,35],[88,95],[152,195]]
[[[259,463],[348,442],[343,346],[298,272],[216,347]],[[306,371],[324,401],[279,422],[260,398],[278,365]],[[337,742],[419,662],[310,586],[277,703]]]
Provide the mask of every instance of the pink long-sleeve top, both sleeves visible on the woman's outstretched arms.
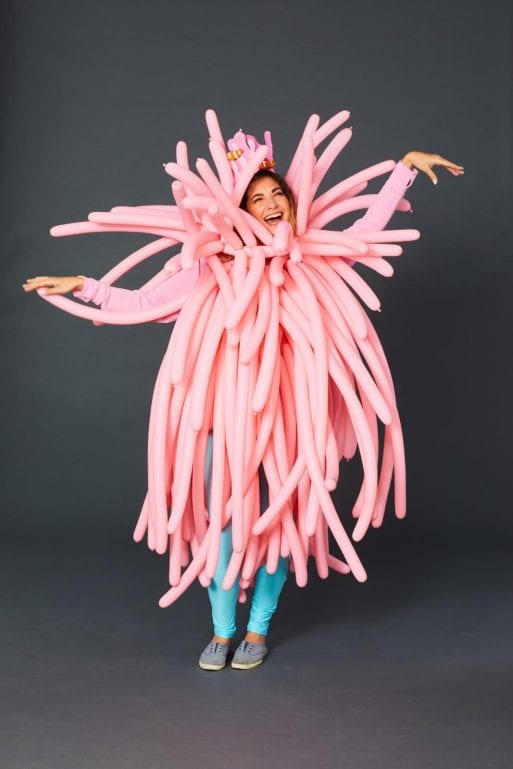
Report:
[[[345,232],[379,232],[383,230],[408,187],[411,186],[418,171],[409,169],[399,161],[385,184],[376,195],[365,214],[357,219]],[[101,280],[84,276],[84,285],[80,291],[74,291],[73,296],[83,302],[93,302],[100,305],[102,310],[111,312],[134,312],[160,304],[173,302],[180,297],[187,297],[198,280],[205,263],[194,265],[190,270],[182,270],[175,275],[169,275],[157,286],[147,289],[127,289],[109,286]],[[162,318],[163,321],[176,320],[179,312]]]

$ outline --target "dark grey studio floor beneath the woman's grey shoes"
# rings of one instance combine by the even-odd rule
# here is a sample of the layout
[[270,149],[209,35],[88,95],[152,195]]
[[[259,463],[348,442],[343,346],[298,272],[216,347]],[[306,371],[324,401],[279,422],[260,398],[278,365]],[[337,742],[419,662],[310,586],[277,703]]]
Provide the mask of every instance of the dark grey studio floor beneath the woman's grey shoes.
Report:
[[165,568],[145,547],[11,544],[1,767],[509,769],[505,543],[396,550],[369,550],[365,585],[291,576],[265,663],[208,673],[206,591],[159,609]]

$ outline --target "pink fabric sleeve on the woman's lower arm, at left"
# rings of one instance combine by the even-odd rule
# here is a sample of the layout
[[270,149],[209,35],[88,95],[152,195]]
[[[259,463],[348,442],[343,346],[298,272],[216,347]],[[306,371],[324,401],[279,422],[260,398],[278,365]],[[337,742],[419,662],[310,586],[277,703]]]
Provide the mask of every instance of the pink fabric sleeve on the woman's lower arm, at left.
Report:
[[[161,283],[153,288],[134,290],[110,286],[101,280],[83,276],[84,285],[80,291],[74,291],[73,296],[83,302],[93,302],[93,304],[99,305],[102,310],[110,310],[111,312],[146,310],[188,296],[202,269],[204,269],[204,265],[196,264],[190,270],[181,270],[175,275],[165,277]],[[167,315],[165,318],[161,318],[160,322],[169,323],[176,320],[178,314],[175,312],[172,315]]]

